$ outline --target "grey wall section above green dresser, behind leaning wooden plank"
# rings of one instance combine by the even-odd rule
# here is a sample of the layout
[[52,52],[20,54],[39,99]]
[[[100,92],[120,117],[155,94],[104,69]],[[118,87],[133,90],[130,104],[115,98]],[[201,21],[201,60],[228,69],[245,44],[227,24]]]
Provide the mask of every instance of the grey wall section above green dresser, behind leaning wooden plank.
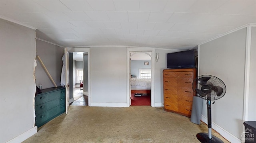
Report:
[[[57,86],[61,86],[60,76],[63,65],[61,58],[63,54],[64,49],[62,47],[36,40],[36,55],[42,59]],[[39,86],[40,83],[42,84],[43,89],[54,87],[54,84],[52,84],[50,78],[38,61],[36,67],[36,86]]]

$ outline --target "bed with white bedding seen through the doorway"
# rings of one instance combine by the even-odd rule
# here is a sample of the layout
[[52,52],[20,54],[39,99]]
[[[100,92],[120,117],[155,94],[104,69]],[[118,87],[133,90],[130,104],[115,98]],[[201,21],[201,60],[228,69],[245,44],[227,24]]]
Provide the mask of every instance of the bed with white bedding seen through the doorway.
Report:
[[131,78],[131,94],[151,93],[151,79],[148,78]]

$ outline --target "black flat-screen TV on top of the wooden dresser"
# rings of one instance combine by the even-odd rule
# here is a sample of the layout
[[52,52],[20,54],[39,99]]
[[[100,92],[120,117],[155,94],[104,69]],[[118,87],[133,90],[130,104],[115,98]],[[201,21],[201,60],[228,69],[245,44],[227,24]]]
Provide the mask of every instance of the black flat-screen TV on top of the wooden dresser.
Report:
[[168,53],[167,69],[195,68],[194,50]]

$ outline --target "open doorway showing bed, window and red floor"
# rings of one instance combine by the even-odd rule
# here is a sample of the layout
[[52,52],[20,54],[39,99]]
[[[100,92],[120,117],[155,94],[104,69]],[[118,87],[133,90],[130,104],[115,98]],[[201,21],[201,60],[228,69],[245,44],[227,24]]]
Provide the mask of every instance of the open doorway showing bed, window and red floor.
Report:
[[151,105],[152,52],[130,52],[131,106]]

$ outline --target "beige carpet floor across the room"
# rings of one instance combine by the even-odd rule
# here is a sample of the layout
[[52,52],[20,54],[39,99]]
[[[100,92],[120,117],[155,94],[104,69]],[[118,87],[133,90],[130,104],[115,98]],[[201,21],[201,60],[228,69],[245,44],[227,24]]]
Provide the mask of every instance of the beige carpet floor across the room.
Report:
[[[150,106],[70,106],[24,143],[199,143],[207,125]],[[218,133],[212,134],[228,143]]]

